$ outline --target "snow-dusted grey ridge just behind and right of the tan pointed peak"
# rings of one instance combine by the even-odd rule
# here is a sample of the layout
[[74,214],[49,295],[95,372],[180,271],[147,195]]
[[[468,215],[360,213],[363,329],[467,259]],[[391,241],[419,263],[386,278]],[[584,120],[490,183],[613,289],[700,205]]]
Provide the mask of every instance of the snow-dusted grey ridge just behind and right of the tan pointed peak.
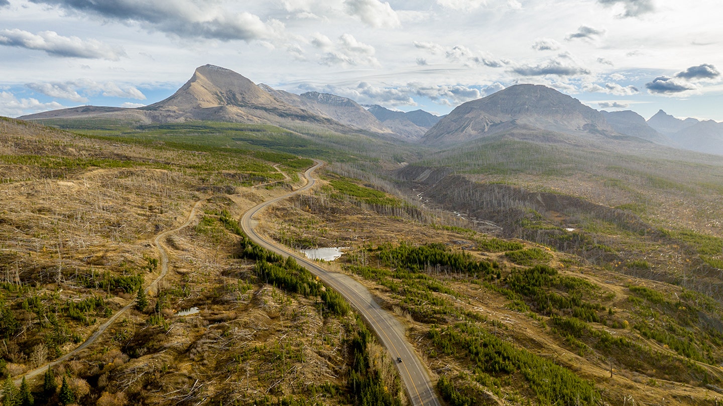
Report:
[[306,92],[301,95],[276,90],[268,85],[259,85],[262,90],[289,105],[303,108],[317,116],[328,117],[355,129],[372,131],[379,134],[394,134],[380,123],[375,116],[354,100],[320,92]]

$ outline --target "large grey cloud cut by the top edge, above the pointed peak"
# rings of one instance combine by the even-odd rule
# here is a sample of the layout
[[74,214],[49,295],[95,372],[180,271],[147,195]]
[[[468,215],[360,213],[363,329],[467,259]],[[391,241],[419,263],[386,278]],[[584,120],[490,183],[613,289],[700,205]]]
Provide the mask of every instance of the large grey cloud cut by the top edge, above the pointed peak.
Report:
[[271,40],[279,38],[283,25],[277,20],[262,22],[249,12],[230,12],[217,1],[200,0],[30,0],[108,20],[138,22],[184,38],[218,40]]

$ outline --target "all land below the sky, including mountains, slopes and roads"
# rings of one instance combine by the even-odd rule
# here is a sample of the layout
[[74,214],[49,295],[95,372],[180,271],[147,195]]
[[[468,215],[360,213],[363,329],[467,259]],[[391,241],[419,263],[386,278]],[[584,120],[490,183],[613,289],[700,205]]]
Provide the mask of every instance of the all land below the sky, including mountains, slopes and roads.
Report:
[[5,399],[723,399],[723,163],[671,137],[700,122],[539,85],[423,113],[206,65],[0,118]]

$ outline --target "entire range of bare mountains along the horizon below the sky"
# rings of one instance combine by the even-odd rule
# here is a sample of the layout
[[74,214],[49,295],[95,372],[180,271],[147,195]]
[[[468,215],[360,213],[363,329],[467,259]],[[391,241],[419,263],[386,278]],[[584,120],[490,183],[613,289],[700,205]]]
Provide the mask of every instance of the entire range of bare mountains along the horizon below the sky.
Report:
[[445,147],[500,134],[523,134],[526,139],[542,142],[551,139],[579,142],[627,139],[723,155],[723,123],[695,118],[681,120],[664,111],[659,111],[648,121],[633,111],[596,111],[575,98],[541,85],[510,86],[485,98],[463,103],[447,116],[438,117],[421,110],[404,113],[380,105],[362,106],[354,100],[320,92],[296,95],[268,85],[255,85],[241,74],[213,65],[200,66],[174,95],[145,107],[83,106],[20,118],[304,124],[338,132],[361,131],[430,147]]

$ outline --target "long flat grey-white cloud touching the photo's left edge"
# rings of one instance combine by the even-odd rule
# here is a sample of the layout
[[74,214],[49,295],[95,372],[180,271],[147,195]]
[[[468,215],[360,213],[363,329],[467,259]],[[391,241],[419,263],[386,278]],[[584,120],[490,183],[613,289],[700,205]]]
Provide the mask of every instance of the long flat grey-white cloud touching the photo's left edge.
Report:
[[69,58],[118,61],[121,56],[126,56],[120,47],[108,46],[98,40],[64,37],[54,31],[40,31],[38,34],[33,34],[17,28],[0,30],[0,45],[46,51],[52,56]]

